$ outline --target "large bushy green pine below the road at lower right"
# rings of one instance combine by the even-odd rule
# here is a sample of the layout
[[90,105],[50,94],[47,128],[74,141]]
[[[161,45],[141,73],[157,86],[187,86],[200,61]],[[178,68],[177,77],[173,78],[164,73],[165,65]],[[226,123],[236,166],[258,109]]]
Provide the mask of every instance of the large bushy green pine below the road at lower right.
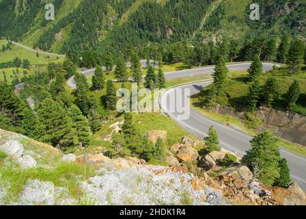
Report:
[[273,132],[266,130],[251,140],[252,149],[242,158],[242,162],[258,175],[265,185],[273,185],[279,178],[279,140]]

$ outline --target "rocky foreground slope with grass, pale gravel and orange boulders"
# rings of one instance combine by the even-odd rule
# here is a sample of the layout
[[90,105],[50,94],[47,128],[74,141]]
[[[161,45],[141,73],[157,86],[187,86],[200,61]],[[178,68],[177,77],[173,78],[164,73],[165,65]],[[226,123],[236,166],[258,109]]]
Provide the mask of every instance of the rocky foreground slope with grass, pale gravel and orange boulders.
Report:
[[[193,144],[198,143],[183,138],[178,157]],[[0,205],[305,205],[305,193],[296,183],[288,189],[264,186],[246,166],[214,166],[195,176],[195,166],[178,160],[167,167],[135,157],[79,153],[63,155],[53,146],[0,129]],[[226,153],[214,151],[206,163]]]

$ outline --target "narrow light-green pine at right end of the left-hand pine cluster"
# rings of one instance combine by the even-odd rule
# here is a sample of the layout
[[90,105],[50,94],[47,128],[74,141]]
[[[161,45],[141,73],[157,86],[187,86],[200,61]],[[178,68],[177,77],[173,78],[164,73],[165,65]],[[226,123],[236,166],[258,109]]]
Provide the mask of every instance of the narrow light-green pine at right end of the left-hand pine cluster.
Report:
[[72,118],[73,128],[77,130],[77,136],[79,138],[80,146],[89,145],[89,122],[85,116],[83,116],[81,110],[76,105],[72,105],[69,108],[68,115]]

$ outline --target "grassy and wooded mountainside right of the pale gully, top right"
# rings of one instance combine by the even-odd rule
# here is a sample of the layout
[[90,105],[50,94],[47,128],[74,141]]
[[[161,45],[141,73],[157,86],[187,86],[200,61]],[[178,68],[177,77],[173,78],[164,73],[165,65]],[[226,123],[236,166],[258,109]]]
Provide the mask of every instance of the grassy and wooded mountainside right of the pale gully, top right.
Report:
[[197,33],[197,37],[209,39],[212,36],[230,34],[239,38],[248,31],[265,31],[273,35],[288,32],[305,38],[305,1],[257,1],[260,5],[259,21],[251,21],[249,18],[251,3],[253,2],[249,0],[221,1],[204,24],[203,30]]

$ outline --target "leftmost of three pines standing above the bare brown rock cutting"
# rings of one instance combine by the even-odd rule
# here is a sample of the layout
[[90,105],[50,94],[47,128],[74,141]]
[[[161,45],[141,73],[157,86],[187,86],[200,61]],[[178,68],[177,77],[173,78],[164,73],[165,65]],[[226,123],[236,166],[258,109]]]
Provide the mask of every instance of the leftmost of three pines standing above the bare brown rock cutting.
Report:
[[249,86],[249,92],[247,93],[247,107],[250,112],[254,112],[258,107],[261,92],[262,87],[260,86],[260,82],[258,79],[254,79],[253,83]]

